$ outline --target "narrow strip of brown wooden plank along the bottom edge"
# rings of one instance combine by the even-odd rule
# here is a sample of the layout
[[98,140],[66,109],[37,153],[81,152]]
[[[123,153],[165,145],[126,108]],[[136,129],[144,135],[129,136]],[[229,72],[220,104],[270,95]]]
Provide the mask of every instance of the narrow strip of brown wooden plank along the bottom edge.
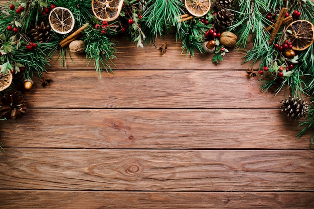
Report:
[[0,208],[314,208],[313,192],[112,192],[0,190]]

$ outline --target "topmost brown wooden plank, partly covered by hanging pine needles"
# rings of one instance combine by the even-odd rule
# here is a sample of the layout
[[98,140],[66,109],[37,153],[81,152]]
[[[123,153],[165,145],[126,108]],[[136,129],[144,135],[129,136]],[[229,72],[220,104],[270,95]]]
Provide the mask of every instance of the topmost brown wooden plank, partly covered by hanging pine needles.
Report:
[[[157,39],[154,45],[146,45],[144,48],[136,48],[134,43],[127,41],[126,37],[118,37],[116,59],[113,59],[113,70],[238,70],[251,67],[251,63],[242,64],[244,56],[242,51],[230,49],[224,61],[218,65],[212,63],[214,53],[200,54],[195,53],[193,57],[182,52],[181,42],[176,42],[175,35],[168,35],[165,39]],[[165,54],[158,50],[163,43],[168,43]],[[69,53],[66,57],[66,66],[60,65],[60,60],[53,57],[49,70],[94,70],[93,62],[88,65],[85,54]],[[74,62],[72,60],[74,60]],[[232,65],[230,65],[232,63]],[[258,63],[254,66],[258,69]]]

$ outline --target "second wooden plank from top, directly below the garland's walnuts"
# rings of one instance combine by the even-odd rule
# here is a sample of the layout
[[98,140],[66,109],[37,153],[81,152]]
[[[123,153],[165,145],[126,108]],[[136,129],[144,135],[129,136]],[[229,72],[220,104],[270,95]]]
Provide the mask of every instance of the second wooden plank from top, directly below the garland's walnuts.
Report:
[[[32,108],[279,108],[244,71],[116,71],[99,79],[93,71],[50,72],[25,95]],[[36,78],[38,79],[38,78]]]

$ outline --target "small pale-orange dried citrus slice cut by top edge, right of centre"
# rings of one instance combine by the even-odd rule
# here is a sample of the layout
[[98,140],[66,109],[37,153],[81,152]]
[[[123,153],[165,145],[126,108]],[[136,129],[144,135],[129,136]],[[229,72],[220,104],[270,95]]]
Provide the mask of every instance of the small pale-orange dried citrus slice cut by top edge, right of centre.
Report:
[[211,0],[185,0],[184,5],[191,15],[201,17],[208,13]]

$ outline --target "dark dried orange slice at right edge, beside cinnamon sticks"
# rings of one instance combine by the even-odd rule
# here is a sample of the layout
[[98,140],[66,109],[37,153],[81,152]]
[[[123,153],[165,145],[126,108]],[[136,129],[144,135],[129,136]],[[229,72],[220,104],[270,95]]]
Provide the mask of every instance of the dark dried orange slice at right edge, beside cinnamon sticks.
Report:
[[284,31],[292,44],[292,50],[302,51],[307,49],[314,41],[313,24],[306,20],[299,20],[290,23]]

